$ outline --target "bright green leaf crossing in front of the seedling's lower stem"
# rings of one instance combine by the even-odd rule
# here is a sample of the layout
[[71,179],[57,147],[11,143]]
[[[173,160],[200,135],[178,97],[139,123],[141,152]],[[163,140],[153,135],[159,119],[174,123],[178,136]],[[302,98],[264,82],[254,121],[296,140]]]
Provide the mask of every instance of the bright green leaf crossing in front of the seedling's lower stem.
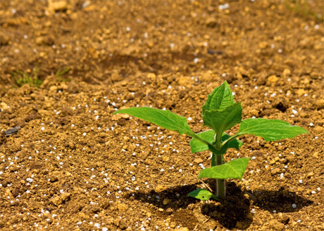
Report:
[[198,178],[210,177],[216,179],[242,179],[249,160],[250,158],[239,158],[231,160],[224,165],[205,168],[199,172]]

